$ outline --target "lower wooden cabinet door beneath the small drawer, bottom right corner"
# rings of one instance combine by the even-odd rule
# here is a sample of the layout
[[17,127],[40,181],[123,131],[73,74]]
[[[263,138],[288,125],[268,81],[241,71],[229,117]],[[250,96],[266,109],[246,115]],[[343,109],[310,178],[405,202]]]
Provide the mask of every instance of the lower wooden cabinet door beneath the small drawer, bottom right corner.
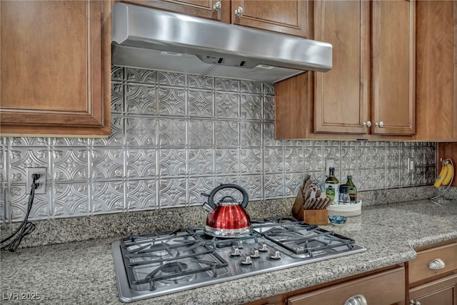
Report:
[[410,289],[409,299],[410,304],[457,305],[457,274]]

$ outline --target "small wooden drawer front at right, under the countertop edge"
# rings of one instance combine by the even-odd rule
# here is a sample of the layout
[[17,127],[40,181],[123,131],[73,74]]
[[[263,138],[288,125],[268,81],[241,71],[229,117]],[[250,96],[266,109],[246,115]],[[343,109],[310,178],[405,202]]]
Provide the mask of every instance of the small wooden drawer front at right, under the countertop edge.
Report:
[[[429,264],[435,259],[441,259],[446,264],[446,267],[443,269],[431,269]],[[453,270],[457,270],[457,243],[419,251],[417,258],[409,262],[409,283],[445,274]]]

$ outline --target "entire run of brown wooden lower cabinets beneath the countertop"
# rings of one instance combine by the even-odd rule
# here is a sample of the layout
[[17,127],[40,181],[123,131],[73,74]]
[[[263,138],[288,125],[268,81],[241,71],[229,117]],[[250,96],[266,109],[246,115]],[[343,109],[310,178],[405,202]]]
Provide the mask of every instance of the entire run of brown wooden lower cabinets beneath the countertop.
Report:
[[407,263],[248,305],[457,305],[457,239],[416,249]]

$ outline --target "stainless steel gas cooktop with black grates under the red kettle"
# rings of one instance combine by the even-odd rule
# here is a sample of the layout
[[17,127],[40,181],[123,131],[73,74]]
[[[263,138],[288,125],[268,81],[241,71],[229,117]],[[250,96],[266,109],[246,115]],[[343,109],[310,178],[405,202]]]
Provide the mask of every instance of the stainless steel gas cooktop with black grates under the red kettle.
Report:
[[241,238],[204,228],[129,236],[112,244],[119,299],[148,299],[366,251],[353,239],[295,219],[253,221]]

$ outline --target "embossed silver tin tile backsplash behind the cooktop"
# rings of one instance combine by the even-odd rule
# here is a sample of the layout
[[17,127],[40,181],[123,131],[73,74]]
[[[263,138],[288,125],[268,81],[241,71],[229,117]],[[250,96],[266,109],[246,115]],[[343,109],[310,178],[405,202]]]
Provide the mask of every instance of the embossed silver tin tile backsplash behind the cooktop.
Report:
[[24,218],[27,167],[47,168],[31,219],[200,205],[221,183],[252,201],[292,198],[305,173],[322,178],[327,158],[361,191],[434,181],[435,143],[274,139],[273,84],[121,67],[111,76],[108,139],[0,138],[1,221]]

